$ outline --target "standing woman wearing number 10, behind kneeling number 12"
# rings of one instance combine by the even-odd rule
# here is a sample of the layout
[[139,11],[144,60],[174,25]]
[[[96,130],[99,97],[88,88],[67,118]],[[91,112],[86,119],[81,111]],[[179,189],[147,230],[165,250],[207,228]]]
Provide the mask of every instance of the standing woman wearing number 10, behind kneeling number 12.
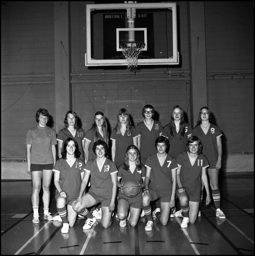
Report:
[[63,143],[67,138],[74,138],[79,145],[79,150],[81,152],[80,158],[84,161],[84,142],[85,142],[85,132],[83,129],[77,126],[77,114],[70,110],[65,114],[65,128],[59,131],[57,135],[57,153],[59,158],[62,157],[64,151]]

